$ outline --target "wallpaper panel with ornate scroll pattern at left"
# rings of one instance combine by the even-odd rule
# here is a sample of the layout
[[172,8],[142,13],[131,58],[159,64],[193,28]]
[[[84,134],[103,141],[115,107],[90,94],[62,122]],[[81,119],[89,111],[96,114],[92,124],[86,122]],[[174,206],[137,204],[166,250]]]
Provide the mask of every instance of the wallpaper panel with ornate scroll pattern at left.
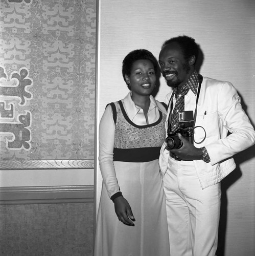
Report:
[[0,160],[93,159],[96,0],[0,0]]

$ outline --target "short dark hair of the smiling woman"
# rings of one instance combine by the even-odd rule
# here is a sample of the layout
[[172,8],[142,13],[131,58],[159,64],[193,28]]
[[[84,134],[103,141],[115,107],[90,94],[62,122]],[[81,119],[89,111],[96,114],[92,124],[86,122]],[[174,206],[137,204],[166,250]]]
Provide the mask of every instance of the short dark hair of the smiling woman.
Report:
[[[122,75],[123,75],[124,81],[126,83],[127,83],[127,81],[125,79],[125,75],[130,76],[133,63],[136,60],[140,60],[140,59],[150,60],[154,67],[155,74],[157,74],[158,63],[157,63],[157,60],[154,57],[154,55],[150,51],[145,50],[145,49],[134,50],[134,51],[131,51],[130,53],[128,53],[128,55],[122,61]],[[127,86],[128,86],[128,83],[127,83]]]

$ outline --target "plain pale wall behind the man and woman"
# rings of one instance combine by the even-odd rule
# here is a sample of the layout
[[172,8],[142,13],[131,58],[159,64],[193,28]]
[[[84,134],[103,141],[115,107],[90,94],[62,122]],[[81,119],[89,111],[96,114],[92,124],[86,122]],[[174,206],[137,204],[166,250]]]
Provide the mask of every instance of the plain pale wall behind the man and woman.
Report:
[[[204,54],[200,73],[232,82],[255,122],[253,0],[103,0],[99,11],[98,121],[107,103],[128,92],[121,74],[122,60],[128,52],[145,48],[158,57],[166,39],[187,34],[196,39]],[[167,92],[161,78],[156,98],[164,100]],[[223,218],[227,220],[225,256],[255,253],[254,155],[254,147],[238,154],[235,159],[239,167],[223,182],[228,201],[226,205],[224,200],[222,207],[227,210]],[[101,182],[98,167],[98,199]]]

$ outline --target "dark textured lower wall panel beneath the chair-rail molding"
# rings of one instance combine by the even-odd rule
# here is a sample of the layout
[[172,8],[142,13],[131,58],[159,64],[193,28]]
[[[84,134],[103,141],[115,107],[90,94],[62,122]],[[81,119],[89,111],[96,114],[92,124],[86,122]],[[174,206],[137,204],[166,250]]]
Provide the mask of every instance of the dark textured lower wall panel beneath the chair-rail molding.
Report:
[[92,256],[93,203],[0,205],[0,255]]

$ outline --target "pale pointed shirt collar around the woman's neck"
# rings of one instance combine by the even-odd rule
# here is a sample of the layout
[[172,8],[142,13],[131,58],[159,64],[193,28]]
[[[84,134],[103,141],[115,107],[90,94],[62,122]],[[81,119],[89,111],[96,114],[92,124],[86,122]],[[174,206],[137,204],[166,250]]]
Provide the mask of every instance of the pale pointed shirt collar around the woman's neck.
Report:
[[[138,112],[143,111],[143,109],[141,109],[140,106],[135,105],[135,103],[131,99],[131,93],[132,92],[128,93],[128,95],[123,99],[123,102],[124,102],[126,111],[128,111],[128,116],[132,120],[134,118],[134,116]],[[150,95],[150,100],[151,100],[151,102],[150,102],[150,107],[149,107],[148,112],[154,108],[157,108],[156,100],[154,99],[154,97],[152,95]]]

